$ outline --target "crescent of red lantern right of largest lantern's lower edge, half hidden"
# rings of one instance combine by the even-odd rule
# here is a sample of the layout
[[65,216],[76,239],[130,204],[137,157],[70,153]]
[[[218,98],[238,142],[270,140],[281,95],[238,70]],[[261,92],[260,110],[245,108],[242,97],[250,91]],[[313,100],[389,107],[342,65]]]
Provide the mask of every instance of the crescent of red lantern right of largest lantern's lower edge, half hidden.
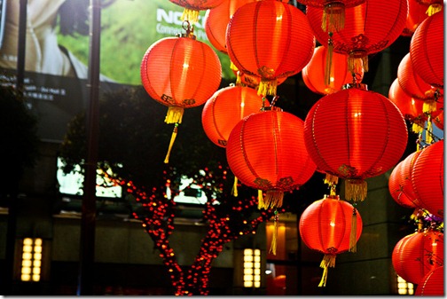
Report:
[[388,190],[393,200],[400,206],[409,209],[420,208],[420,201],[412,187],[412,168],[419,152],[409,154],[391,171],[388,179]]

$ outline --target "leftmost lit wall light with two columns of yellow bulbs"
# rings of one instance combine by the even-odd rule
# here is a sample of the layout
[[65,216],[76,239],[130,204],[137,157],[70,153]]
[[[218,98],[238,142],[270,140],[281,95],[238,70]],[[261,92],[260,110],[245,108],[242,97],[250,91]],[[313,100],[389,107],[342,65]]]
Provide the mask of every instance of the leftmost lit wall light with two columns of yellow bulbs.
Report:
[[25,238],[22,246],[20,280],[39,281],[41,279],[42,245],[40,238]]

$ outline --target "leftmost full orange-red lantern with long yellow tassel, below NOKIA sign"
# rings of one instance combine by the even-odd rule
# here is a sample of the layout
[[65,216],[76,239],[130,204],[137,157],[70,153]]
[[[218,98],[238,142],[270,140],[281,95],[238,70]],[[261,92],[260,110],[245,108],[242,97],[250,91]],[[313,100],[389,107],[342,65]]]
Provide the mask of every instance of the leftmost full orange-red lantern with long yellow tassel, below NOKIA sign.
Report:
[[169,162],[184,109],[204,104],[218,89],[222,79],[220,60],[188,28],[185,35],[153,43],[142,59],[140,75],[151,98],[168,106],[165,122],[175,124],[165,159]]

